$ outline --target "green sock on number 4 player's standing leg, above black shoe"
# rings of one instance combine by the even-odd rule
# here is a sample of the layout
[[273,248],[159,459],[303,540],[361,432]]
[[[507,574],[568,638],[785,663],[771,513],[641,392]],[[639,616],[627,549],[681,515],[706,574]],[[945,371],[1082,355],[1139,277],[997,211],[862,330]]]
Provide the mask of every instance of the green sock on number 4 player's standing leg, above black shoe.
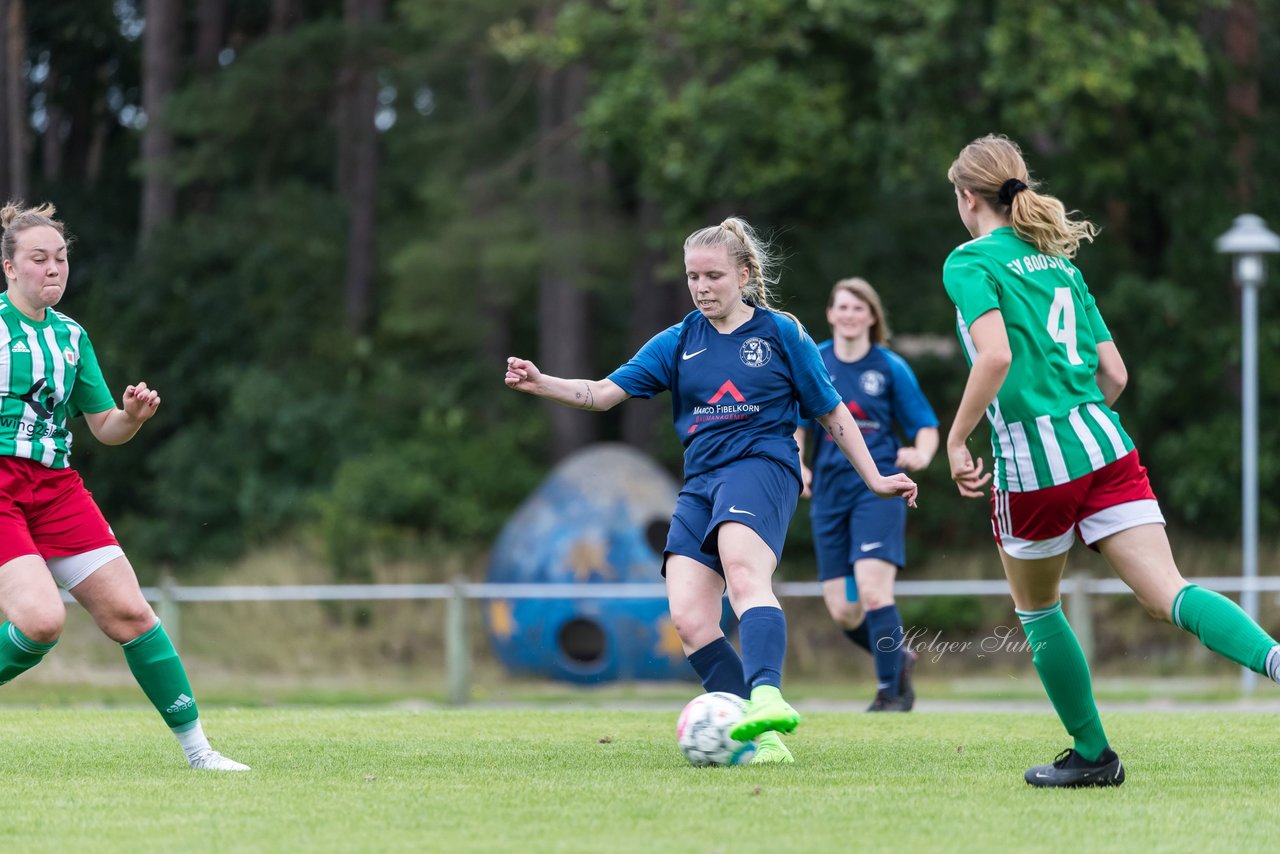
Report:
[[1062,603],[1016,613],[1053,711],[1075,739],[1075,752],[1093,762],[1107,749],[1107,734],[1102,731],[1098,707],[1093,703],[1089,663],[1062,613]]

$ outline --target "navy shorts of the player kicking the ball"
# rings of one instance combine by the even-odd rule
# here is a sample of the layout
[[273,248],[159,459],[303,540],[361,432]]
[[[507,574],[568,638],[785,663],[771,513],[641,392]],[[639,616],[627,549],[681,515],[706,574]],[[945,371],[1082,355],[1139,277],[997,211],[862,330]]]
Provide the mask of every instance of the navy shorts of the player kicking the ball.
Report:
[[[781,561],[787,525],[799,499],[796,476],[764,457],[748,457],[698,475],[685,483],[676,499],[666,554],[692,558],[724,575],[718,529],[723,522],[740,522],[759,534]],[[666,561],[662,572],[667,574]]]

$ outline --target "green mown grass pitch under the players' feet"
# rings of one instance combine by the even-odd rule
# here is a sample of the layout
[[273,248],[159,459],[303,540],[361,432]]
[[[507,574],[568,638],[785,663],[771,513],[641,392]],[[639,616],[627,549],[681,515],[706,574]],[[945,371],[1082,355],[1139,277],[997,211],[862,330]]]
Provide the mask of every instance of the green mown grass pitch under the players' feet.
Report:
[[0,707],[4,851],[1267,850],[1275,714],[1114,712],[1129,781],[1043,791],[1048,713],[813,712],[797,764],[692,768],[675,711],[206,708],[253,766],[188,771],[143,708]]

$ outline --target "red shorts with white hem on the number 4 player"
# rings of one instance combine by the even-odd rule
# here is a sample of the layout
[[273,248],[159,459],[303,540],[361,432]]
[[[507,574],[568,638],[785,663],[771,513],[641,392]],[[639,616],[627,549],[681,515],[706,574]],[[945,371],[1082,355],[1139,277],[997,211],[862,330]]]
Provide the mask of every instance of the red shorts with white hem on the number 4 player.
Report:
[[1012,557],[1064,554],[1079,534],[1085,545],[1138,525],[1164,525],[1147,470],[1130,451],[1092,474],[1032,492],[991,490],[991,529]]

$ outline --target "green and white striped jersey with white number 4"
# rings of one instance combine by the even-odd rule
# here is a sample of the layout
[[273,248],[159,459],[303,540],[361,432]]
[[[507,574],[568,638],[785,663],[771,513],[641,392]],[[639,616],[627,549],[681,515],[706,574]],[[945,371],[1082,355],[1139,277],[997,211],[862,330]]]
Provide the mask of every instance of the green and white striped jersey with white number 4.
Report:
[[987,407],[996,487],[1055,487],[1133,451],[1096,379],[1097,347],[1111,333],[1070,260],[1044,255],[1012,228],[997,228],[956,247],[942,283],[970,365],[974,320],[998,310],[1009,332],[1012,364]]

